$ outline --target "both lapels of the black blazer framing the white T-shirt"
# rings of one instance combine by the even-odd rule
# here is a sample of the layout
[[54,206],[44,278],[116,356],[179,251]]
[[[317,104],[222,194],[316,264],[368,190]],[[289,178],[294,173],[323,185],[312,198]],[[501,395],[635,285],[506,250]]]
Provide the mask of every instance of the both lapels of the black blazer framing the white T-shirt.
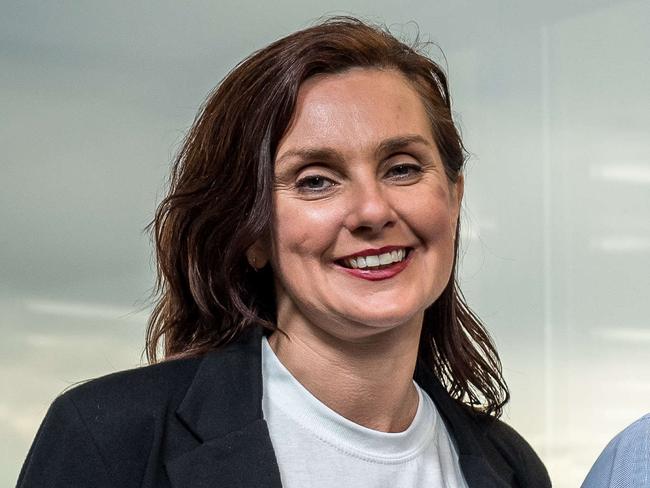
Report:
[[[174,488],[281,488],[280,472],[262,414],[262,329],[207,354],[177,410],[201,444],[167,463]],[[481,447],[484,428],[418,362],[417,383],[432,398],[455,442],[469,487],[506,488],[512,471],[497,474]],[[504,479],[505,477],[505,479]]]

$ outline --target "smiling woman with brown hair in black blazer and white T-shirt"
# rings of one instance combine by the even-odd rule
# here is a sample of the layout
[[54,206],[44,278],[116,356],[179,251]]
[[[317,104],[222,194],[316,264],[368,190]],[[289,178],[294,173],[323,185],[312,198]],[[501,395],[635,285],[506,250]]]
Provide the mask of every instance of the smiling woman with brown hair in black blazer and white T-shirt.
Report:
[[59,397],[18,485],[550,486],[456,288],[463,162],[444,73],[379,28],[246,59],[154,221],[155,364]]

